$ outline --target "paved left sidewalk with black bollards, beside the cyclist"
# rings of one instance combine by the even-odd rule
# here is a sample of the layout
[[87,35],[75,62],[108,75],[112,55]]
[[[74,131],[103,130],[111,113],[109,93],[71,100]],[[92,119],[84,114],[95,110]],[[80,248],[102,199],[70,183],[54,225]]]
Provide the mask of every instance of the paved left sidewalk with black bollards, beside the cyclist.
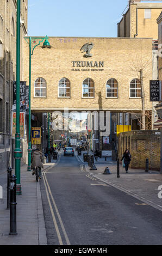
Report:
[[[58,155],[59,156],[59,155]],[[43,164],[44,169],[53,166],[57,160]],[[14,170],[12,174],[15,174]],[[17,235],[9,235],[10,210],[7,210],[7,172],[0,174],[3,199],[0,199],[0,245],[47,245],[43,217],[40,183],[35,175],[27,171],[27,164],[21,166],[22,194],[16,195]]]

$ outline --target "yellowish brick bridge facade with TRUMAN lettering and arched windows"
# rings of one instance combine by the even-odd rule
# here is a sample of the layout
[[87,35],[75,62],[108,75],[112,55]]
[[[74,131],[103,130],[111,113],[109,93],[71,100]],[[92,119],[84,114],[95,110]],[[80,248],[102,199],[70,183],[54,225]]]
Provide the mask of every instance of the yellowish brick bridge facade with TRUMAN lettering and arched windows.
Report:
[[[145,107],[152,80],[152,39],[54,38],[49,48],[36,47],[32,56],[33,112],[108,110],[141,111],[140,60],[144,69]],[[93,44],[91,57],[80,49]],[[24,80],[28,84],[29,47],[24,52]],[[142,56],[142,57],[141,57]]]

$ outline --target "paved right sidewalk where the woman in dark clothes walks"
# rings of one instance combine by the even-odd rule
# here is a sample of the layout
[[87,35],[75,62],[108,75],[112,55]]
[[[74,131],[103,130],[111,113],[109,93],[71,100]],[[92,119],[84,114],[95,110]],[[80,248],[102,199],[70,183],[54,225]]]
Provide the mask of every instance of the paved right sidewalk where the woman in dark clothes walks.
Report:
[[[126,192],[129,196],[133,196],[136,199],[141,200],[144,204],[153,206],[154,208],[162,211],[162,199],[158,198],[158,187],[162,186],[162,175],[158,171],[149,170],[148,173],[142,169],[129,168],[128,173],[120,164],[120,178],[117,178],[117,163],[114,161],[105,162],[103,159],[94,161],[97,170],[90,170],[87,162],[83,161],[82,156],[76,157],[85,166],[90,176],[95,177],[99,181],[105,182],[106,184],[113,186],[123,192]],[[105,174],[105,167],[109,167],[111,174]],[[109,196],[109,195],[108,195]],[[141,203],[142,203],[141,202]]]

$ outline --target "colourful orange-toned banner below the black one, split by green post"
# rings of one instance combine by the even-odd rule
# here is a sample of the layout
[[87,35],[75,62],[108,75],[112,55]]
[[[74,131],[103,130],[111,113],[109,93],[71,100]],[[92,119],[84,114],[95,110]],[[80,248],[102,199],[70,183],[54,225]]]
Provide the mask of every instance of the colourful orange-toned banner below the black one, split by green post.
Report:
[[[20,138],[24,139],[26,123],[26,113],[20,112]],[[16,112],[12,112],[12,138],[15,139],[16,134]]]

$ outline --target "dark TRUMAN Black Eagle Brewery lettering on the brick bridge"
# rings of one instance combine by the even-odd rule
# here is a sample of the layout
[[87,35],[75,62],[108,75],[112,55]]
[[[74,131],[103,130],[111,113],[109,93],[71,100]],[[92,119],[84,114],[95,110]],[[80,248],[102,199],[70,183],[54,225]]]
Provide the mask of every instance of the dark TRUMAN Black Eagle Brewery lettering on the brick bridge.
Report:
[[85,62],[85,61],[72,61],[71,71],[103,71],[104,62]]

